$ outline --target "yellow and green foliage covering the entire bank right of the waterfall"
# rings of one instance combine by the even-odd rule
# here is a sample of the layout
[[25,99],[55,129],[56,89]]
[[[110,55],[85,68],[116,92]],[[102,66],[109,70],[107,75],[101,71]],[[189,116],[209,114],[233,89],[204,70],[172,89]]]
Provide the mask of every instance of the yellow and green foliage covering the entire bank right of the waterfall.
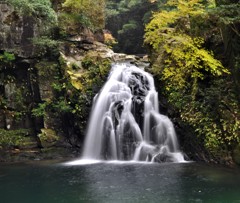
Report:
[[226,84],[230,71],[204,47],[199,30],[207,28],[212,3],[168,1],[146,26],[145,44],[153,51],[152,72],[164,84],[163,94],[218,156],[240,142],[240,108],[232,82]]

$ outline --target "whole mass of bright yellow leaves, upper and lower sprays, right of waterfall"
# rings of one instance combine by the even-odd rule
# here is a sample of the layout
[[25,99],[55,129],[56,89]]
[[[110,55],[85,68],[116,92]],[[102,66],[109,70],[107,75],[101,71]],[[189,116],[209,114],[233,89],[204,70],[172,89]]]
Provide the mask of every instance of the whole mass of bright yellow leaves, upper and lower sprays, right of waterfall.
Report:
[[[161,60],[161,67],[155,66],[153,71],[161,74],[166,90],[189,88],[190,84],[192,96],[198,80],[228,73],[221,62],[203,48],[203,38],[187,34],[191,29],[190,16],[196,18],[203,13],[202,6],[193,2],[197,1],[180,1],[179,9],[156,13],[146,26],[145,35],[145,43],[151,45]],[[171,6],[173,3],[176,2],[169,1]]]

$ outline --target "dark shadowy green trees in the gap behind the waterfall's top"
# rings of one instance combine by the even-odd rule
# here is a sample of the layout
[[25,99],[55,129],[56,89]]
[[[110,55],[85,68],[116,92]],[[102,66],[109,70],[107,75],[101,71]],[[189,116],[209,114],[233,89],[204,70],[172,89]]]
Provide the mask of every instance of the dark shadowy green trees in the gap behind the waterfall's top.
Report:
[[115,52],[127,54],[145,53],[143,49],[144,24],[149,22],[152,11],[161,1],[111,0],[107,1],[106,29],[118,42]]

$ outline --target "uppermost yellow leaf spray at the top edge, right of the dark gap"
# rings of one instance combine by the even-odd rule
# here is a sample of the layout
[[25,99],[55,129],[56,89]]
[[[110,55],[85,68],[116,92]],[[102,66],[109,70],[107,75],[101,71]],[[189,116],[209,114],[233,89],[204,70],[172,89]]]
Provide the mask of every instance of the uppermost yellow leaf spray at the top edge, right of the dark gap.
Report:
[[[175,9],[154,13],[145,29],[145,43],[158,50],[166,39],[190,32],[191,18],[196,18],[204,13],[204,6],[200,2],[200,0],[169,0],[167,5],[175,7]],[[200,38],[195,40],[196,44],[203,43]]]

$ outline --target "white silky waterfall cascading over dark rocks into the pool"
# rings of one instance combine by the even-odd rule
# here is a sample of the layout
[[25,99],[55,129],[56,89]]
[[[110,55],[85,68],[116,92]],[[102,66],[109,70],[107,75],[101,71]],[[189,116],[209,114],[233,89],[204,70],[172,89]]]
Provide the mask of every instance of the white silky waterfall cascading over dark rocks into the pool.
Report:
[[115,64],[95,96],[83,159],[184,161],[172,122],[159,114],[153,77]]

